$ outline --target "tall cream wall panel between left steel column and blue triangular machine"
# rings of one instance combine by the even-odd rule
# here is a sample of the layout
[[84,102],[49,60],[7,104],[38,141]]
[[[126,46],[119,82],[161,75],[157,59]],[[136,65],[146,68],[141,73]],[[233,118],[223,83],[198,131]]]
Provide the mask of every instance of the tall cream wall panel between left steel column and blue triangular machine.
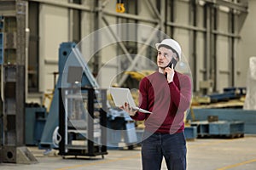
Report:
[[48,69],[45,61],[57,61],[58,50],[61,42],[68,40],[68,17],[67,8],[58,8],[41,4],[39,14],[39,37],[40,37],[40,91],[53,87],[53,75],[49,74],[58,71],[58,64]]

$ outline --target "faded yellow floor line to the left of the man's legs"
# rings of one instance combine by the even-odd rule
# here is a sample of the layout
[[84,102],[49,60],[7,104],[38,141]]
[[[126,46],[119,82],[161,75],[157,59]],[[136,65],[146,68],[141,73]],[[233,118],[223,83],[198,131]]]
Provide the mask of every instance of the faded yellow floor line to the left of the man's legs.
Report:
[[141,156],[140,154],[137,154],[135,156],[120,157],[120,158],[116,158],[113,160],[95,161],[95,162],[90,162],[90,163],[81,164],[81,165],[74,165],[74,166],[70,166],[70,167],[61,167],[61,168],[56,168],[55,170],[66,170],[66,169],[73,169],[73,168],[78,168],[78,167],[89,167],[89,166],[98,165],[98,164],[102,164],[102,163],[109,163],[109,162],[113,162],[113,161],[128,160],[128,159],[136,158],[136,157],[140,157],[140,156]]

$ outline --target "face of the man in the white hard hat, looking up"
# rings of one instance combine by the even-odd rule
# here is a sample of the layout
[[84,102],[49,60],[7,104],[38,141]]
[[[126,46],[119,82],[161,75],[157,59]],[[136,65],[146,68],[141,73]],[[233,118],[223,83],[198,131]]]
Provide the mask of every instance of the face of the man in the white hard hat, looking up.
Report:
[[171,61],[173,52],[171,49],[160,47],[157,53],[157,66],[165,68]]

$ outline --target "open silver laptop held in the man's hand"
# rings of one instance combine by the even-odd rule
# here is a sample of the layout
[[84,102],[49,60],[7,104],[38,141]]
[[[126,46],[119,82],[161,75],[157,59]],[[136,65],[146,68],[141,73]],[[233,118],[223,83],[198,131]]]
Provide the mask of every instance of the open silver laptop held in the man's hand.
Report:
[[112,95],[114,105],[116,105],[117,107],[125,105],[126,102],[131,106],[132,109],[143,113],[152,113],[150,111],[143,110],[135,105],[129,88],[109,88],[109,92]]

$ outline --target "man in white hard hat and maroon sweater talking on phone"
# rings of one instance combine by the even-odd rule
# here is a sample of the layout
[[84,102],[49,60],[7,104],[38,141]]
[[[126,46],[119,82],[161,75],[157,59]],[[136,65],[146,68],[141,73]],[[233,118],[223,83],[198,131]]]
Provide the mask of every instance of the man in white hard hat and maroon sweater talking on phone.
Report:
[[144,77],[139,85],[140,108],[152,114],[134,111],[126,103],[121,108],[132,119],[145,120],[143,170],[160,169],[163,157],[169,170],[184,170],[187,148],[183,117],[190,105],[191,82],[188,76],[174,70],[182,53],[178,42],[164,39],[155,46],[159,69]]

